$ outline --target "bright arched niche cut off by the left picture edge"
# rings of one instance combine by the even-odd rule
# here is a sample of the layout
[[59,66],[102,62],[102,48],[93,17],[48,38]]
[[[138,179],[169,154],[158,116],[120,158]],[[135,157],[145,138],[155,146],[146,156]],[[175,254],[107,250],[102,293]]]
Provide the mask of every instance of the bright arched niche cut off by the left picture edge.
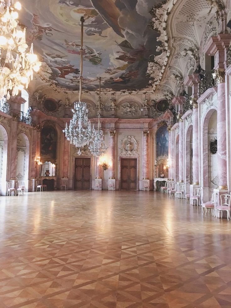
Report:
[[0,124],[0,185],[1,194],[6,194],[6,180],[7,180],[7,153],[8,153],[8,134]]

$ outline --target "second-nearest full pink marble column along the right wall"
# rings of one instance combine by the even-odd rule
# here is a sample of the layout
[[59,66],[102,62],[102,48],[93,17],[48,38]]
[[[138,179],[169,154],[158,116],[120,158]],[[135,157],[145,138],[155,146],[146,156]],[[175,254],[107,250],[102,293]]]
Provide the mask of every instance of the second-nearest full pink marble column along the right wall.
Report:
[[199,185],[199,132],[198,132],[198,104],[192,99],[192,181]]

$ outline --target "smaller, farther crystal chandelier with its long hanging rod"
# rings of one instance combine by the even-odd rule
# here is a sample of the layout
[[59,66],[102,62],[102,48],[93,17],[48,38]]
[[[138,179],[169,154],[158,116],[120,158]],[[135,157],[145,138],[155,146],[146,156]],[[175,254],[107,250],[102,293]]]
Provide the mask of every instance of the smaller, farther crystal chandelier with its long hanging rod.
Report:
[[104,133],[102,130],[100,130],[100,94],[101,94],[101,77],[99,78],[99,112],[98,112],[98,130],[96,131],[93,128],[94,131],[94,138],[90,143],[89,149],[91,154],[94,156],[101,156],[106,152],[108,147],[104,143]]

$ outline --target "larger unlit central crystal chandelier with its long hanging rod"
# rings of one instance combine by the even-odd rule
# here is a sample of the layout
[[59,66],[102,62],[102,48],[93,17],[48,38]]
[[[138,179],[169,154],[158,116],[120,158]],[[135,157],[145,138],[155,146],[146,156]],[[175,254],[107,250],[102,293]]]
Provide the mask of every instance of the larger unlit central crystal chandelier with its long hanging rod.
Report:
[[91,122],[88,119],[87,104],[81,101],[82,83],[83,83],[83,16],[81,21],[81,47],[80,47],[80,77],[79,77],[79,101],[75,102],[74,109],[72,109],[73,117],[70,120],[69,127],[63,130],[67,140],[71,142],[76,148],[79,148],[78,155],[81,154],[80,148],[89,145],[94,138],[94,127],[91,127]]

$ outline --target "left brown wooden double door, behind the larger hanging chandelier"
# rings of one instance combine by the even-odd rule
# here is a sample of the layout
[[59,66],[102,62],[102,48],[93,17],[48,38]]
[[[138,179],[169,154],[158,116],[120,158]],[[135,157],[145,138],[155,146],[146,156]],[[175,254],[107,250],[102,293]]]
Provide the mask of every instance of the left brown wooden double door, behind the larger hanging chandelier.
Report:
[[75,159],[75,189],[90,189],[90,158]]

